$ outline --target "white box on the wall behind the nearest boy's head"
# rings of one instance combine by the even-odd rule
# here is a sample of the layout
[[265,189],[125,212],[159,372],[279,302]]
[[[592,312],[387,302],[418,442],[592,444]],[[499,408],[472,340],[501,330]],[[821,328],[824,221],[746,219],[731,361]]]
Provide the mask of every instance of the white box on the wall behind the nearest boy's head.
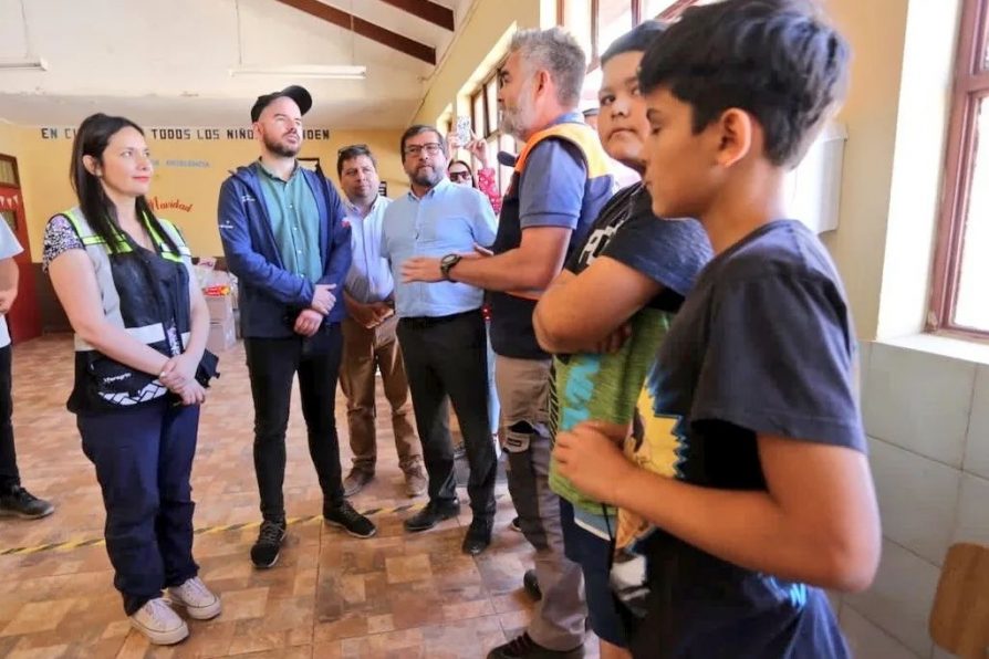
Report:
[[849,129],[829,123],[808,149],[803,160],[787,176],[787,212],[814,233],[837,229],[842,161]]

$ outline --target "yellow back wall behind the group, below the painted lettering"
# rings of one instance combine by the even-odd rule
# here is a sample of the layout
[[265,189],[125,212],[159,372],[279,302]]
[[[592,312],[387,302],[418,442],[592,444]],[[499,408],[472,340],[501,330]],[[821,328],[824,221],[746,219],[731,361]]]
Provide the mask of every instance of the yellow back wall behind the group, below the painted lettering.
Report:
[[[63,137],[63,128],[56,130],[58,137],[44,139],[41,128],[0,124],[0,153],[18,158],[31,259],[35,262],[41,260],[42,238],[49,218],[76,203],[69,184],[72,139]],[[196,128],[191,132],[195,135]],[[399,136],[399,130],[331,130],[327,140],[308,140],[300,155],[319,157],[323,170],[336,182],[337,149],[351,144],[366,144],[378,159],[382,179],[388,184],[388,195],[395,197],[408,190],[408,178],[398,158]],[[181,228],[194,254],[222,254],[216,228],[220,184],[230,169],[258,157],[257,143],[253,139],[155,139],[148,134],[148,145],[158,161],[149,199],[157,198],[159,202],[177,200],[189,207],[188,211],[159,209],[158,215]],[[169,165],[169,160],[202,161],[208,167],[177,167],[174,163]]]

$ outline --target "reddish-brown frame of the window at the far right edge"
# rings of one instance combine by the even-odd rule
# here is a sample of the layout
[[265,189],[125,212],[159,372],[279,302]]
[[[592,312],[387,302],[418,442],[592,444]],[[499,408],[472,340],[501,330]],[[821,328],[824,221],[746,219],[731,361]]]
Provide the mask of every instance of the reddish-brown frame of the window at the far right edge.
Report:
[[[989,103],[989,0],[965,0],[959,24],[951,118],[926,330],[929,333],[987,339],[989,327],[960,325],[955,322],[955,312],[965,255],[965,223],[978,148],[979,105],[981,102]],[[989,148],[989,136],[983,138],[982,147]]]

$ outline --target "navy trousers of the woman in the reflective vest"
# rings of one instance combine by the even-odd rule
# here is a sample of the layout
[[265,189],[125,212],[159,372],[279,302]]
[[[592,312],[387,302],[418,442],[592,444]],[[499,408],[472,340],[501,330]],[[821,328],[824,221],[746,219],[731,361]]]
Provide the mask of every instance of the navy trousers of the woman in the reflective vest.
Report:
[[76,417],[106,508],[113,584],[129,616],[199,571],[192,559],[192,456],[199,407],[169,397],[134,409]]

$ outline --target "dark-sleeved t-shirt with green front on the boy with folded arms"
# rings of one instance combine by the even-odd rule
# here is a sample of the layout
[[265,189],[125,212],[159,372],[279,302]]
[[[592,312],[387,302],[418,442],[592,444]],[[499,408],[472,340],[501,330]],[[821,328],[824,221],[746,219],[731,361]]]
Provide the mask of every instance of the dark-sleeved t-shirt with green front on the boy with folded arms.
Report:
[[[642,184],[618,191],[608,201],[566,269],[580,274],[604,255],[656,281],[663,291],[632,316],[632,334],[617,353],[554,358],[550,393],[553,436],[556,429],[570,430],[589,419],[628,427],[646,370],[673,313],[710,253],[707,234],[697,221],[663,220],[653,215],[652,200]],[[555,462],[550,464],[550,488],[574,504],[579,524],[598,535],[611,535],[607,521],[601,519],[607,514],[606,509],[561,477]]]

